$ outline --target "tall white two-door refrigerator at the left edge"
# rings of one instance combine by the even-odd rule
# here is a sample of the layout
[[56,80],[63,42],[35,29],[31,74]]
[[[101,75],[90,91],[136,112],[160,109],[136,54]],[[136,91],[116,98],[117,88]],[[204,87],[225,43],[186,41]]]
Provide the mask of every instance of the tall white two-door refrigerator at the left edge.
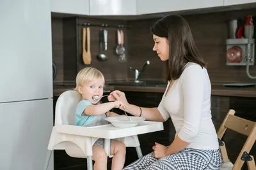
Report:
[[1,0],[1,170],[43,170],[52,107],[50,0]]

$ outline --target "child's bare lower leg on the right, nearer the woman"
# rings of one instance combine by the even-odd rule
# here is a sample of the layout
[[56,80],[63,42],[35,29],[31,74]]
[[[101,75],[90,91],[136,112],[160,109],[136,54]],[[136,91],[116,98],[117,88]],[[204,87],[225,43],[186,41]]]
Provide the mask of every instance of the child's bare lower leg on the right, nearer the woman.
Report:
[[110,154],[113,155],[112,170],[122,170],[125,162],[126,146],[120,141],[113,141]]

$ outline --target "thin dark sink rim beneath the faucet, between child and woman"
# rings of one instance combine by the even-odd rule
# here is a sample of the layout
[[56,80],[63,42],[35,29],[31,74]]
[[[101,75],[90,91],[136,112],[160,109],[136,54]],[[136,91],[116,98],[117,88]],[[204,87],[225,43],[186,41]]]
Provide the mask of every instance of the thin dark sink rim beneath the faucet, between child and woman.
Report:
[[120,81],[120,82],[115,82],[115,83],[108,83],[108,85],[166,87],[167,83],[165,83],[164,81],[140,81],[139,83],[135,83],[134,81]]

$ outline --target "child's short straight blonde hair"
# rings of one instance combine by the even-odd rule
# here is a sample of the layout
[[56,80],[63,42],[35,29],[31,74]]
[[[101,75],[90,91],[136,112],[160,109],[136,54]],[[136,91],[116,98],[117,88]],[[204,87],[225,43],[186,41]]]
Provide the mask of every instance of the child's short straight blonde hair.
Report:
[[84,69],[81,69],[76,76],[76,88],[74,90],[78,92],[79,86],[83,85],[83,83],[99,78],[102,78],[103,83],[105,83],[104,76],[98,69],[93,67],[85,67]]

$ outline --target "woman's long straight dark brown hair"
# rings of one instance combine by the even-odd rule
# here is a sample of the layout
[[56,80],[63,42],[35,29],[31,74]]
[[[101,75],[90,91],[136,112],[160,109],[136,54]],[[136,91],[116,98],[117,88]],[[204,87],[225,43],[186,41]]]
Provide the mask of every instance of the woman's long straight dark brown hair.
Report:
[[152,27],[153,34],[169,41],[169,59],[166,60],[166,80],[177,80],[188,62],[201,67],[206,64],[200,56],[188,22],[179,15],[168,15],[158,20]]

